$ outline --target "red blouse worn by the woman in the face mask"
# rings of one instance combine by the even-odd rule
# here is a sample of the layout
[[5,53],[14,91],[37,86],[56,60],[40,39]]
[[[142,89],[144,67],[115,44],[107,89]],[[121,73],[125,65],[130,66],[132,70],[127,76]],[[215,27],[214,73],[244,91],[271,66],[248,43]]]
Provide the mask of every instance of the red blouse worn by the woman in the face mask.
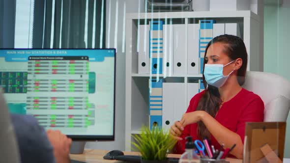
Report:
[[[186,112],[195,111],[204,91],[196,94],[189,103]],[[262,122],[264,119],[264,103],[260,96],[250,92],[244,88],[241,89],[230,101],[225,102],[219,109],[215,119],[227,127],[232,132],[237,133],[244,143],[245,125],[246,122]],[[183,140],[179,140],[175,145],[174,152],[182,154],[185,149],[185,137],[192,136],[193,140],[198,139],[197,124],[190,124],[185,126],[182,135]],[[220,149],[220,144],[211,135],[211,145],[215,149]]]

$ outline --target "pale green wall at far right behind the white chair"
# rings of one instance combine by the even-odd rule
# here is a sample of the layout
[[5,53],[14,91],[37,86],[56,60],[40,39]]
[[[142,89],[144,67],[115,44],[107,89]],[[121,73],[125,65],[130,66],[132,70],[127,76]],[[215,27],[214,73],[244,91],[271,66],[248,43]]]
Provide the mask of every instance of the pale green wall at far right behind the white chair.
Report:
[[[283,0],[282,5],[271,3],[264,7],[264,71],[290,81],[289,16],[290,0]],[[284,157],[290,158],[290,114],[287,119]]]

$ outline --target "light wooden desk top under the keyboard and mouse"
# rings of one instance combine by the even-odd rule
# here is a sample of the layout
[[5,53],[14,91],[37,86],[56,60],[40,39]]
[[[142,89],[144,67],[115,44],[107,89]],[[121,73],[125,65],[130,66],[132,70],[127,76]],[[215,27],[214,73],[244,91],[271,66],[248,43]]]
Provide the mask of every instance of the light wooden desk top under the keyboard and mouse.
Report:
[[[83,161],[87,163],[123,163],[116,160],[104,160],[103,157],[109,151],[107,150],[98,150],[98,149],[86,149],[83,154],[80,155],[70,155],[70,158],[73,160]],[[140,155],[138,152],[126,152],[125,155]],[[169,154],[168,157],[179,158],[180,155]],[[238,159],[227,159],[231,163],[242,163],[242,160]]]

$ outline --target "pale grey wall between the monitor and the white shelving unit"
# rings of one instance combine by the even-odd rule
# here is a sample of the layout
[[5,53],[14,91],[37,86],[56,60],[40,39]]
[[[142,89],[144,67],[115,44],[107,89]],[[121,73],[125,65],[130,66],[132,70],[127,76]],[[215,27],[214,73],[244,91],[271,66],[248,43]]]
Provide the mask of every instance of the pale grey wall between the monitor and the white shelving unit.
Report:
[[[145,0],[106,0],[106,48],[116,48],[115,141],[87,142],[86,148],[125,150],[125,28],[124,12],[144,12]],[[140,5],[139,5],[140,3]],[[140,9],[138,8],[140,6]],[[109,13],[110,12],[110,13]]]

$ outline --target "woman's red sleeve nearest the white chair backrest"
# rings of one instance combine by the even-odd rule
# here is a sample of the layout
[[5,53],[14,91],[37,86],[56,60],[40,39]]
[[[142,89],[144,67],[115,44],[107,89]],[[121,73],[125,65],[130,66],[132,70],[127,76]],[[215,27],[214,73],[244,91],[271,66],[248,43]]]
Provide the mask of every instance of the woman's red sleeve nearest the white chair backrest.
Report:
[[255,98],[242,112],[237,124],[236,133],[244,143],[246,122],[262,122],[264,119],[264,103],[260,97]]

